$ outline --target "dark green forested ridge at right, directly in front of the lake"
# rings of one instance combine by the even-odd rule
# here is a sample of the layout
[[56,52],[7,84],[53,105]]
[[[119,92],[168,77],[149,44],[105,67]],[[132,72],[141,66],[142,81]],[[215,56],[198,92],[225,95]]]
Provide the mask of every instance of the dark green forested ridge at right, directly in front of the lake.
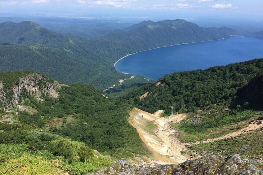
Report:
[[[237,91],[263,72],[263,59],[254,59],[206,70],[175,72],[160,79],[157,85],[145,85],[124,98],[135,98],[136,106],[147,112],[165,110],[196,111],[215,103],[229,104]],[[140,98],[148,92],[148,96]]]

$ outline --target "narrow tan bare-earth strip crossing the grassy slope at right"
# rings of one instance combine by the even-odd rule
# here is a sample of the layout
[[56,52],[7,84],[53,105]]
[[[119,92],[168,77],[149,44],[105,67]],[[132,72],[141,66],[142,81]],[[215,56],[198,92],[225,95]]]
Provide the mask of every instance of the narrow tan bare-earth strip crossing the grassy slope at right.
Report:
[[[236,132],[229,133],[229,134],[223,135],[223,136],[218,137],[218,138],[207,139],[207,140],[203,141],[202,143],[215,142],[215,141],[221,140],[221,139],[236,137],[240,134],[251,133],[251,132],[254,132],[254,131],[262,129],[262,128],[263,128],[263,117],[256,119],[254,121],[251,121],[247,127],[240,129]],[[195,143],[195,144],[198,144],[198,143]]]

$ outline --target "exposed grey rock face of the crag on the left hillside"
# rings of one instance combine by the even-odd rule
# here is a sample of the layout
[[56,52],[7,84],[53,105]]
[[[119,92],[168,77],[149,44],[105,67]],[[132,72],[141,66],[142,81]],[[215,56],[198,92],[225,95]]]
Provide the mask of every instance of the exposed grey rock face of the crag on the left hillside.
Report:
[[50,95],[52,98],[58,98],[56,88],[63,86],[58,82],[51,82],[38,73],[31,73],[25,77],[20,77],[19,81],[13,85],[12,97],[7,97],[7,90],[5,89],[5,82],[0,82],[0,102],[2,107],[16,107],[19,102],[24,99],[20,98],[22,93],[27,93],[35,96],[38,101],[43,101],[43,98]]

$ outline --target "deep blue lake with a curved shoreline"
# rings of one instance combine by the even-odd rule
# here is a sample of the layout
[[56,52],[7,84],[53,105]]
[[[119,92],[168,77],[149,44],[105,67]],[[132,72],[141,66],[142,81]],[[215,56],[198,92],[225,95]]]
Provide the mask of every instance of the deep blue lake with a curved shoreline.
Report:
[[206,69],[255,58],[263,58],[263,39],[233,37],[142,51],[121,59],[115,68],[118,72],[158,80],[172,72]]

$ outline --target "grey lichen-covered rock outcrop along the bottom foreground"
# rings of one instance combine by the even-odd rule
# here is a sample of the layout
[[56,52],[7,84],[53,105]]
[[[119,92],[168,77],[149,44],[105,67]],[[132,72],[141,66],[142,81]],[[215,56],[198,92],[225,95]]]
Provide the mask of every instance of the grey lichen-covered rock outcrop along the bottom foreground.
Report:
[[243,159],[239,154],[229,157],[210,155],[187,160],[176,165],[132,166],[121,159],[111,167],[91,175],[263,175],[263,164],[257,160]]

